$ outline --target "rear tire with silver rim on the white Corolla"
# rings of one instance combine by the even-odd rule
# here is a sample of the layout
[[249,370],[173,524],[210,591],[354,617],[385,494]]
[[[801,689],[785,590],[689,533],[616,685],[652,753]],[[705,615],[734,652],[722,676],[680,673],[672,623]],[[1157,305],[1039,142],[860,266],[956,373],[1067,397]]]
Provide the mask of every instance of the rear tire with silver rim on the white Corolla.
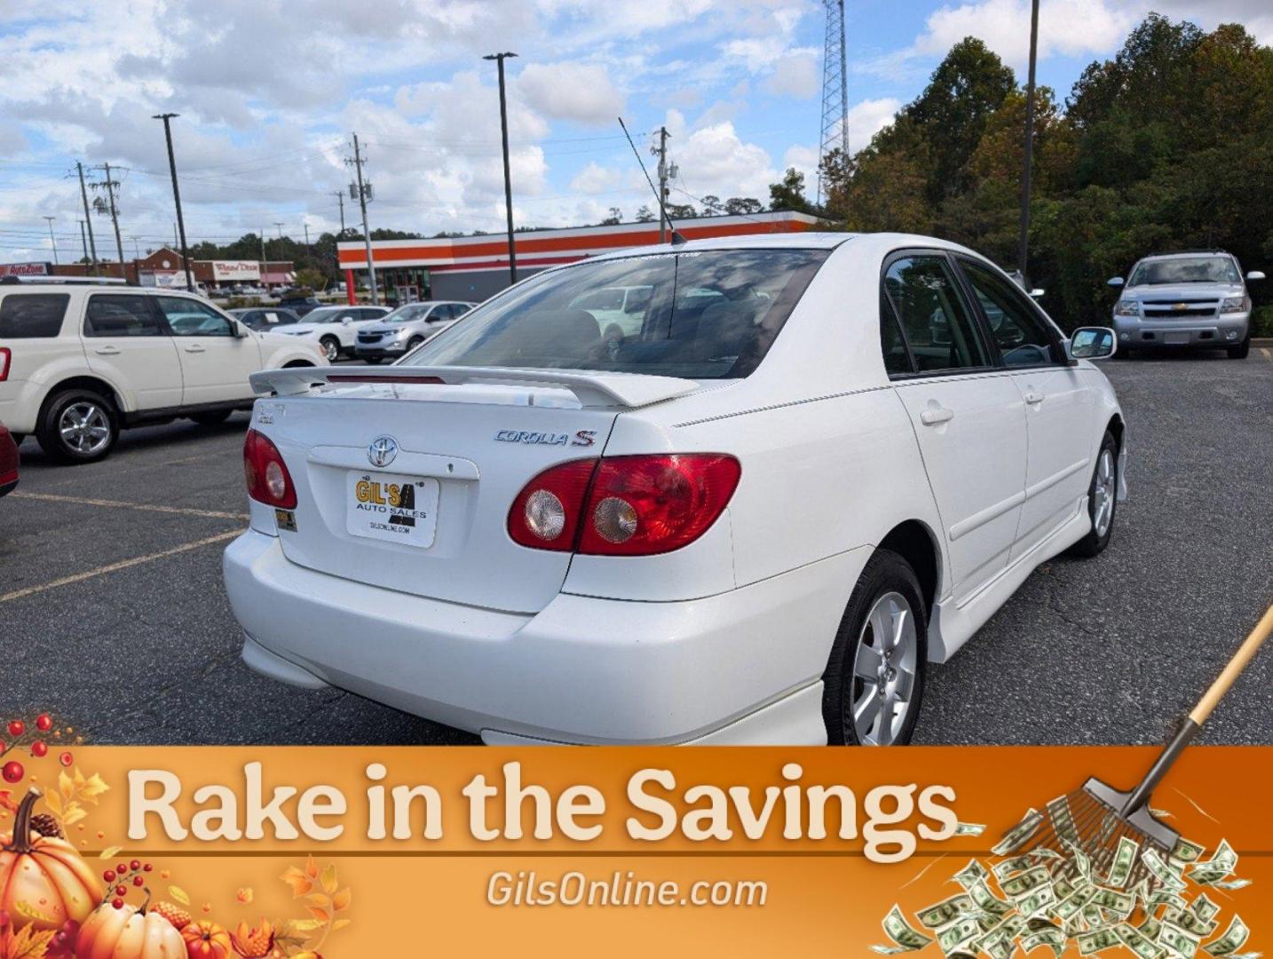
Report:
[[[885,656],[880,655],[882,646],[889,650]],[[827,744],[910,742],[924,694],[927,658],[928,609],[915,571],[896,553],[877,550],[853,588],[822,675]]]

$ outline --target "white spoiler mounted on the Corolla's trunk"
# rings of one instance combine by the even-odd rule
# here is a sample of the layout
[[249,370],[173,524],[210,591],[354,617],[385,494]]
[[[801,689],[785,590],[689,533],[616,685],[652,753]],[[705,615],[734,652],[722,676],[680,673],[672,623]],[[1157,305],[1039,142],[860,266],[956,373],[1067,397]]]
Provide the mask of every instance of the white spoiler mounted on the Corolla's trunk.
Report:
[[503,367],[289,367],[262,369],[248,380],[262,396],[303,396],[314,386],[342,383],[446,383],[460,386],[552,386],[569,390],[583,406],[648,406],[699,388],[693,380],[644,373],[589,373],[574,369]]

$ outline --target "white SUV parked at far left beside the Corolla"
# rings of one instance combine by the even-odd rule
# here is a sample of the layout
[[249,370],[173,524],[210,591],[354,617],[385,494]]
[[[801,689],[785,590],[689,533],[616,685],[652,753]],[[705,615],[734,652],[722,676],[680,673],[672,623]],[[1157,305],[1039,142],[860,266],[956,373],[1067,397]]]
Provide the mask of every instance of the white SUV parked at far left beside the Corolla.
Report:
[[120,429],[250,409],[248,374],[325,364],[306,340],[255,332],[177,290],[0,285],[0,422],[62,462],[111,452]]

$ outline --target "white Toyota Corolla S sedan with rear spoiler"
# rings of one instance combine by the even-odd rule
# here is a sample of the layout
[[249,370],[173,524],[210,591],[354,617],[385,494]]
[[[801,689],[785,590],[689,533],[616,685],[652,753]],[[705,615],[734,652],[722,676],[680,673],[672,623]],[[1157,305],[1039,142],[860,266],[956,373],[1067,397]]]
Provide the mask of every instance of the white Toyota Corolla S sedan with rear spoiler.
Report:
[[[579,306],[631,287],[617,339]],[[256,373],[243,658],[486,742],[905,742],[925,664],[1109,543],[1113,349],[970,250],[805,233],[589,259],[404,363]]]

